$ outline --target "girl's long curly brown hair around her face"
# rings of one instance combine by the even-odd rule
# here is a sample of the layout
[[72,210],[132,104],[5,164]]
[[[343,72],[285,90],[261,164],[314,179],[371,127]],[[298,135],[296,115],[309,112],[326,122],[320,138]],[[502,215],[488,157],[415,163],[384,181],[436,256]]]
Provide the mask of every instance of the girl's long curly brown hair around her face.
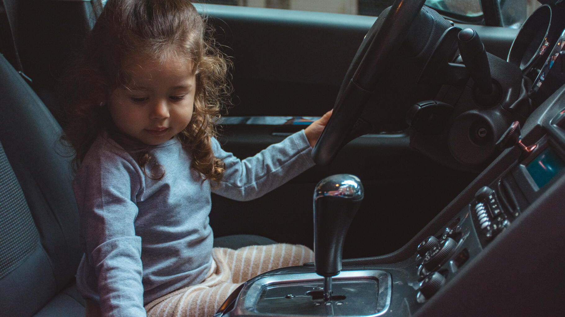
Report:
[[[192,152],[192,167],[203,179],[221,180],[225,165],[214,156],[211,139],[217,135],[220,109],[229,102],[231,64],[211,33],[188,0],[108,0],[67,78],[63,140],[76,151],[75,168],[95,138],[108,131],[147,175],[145,166],[152,162],[149,152],[153,147],[121,134],[103,106],[112,91],[128,87],[128,61],[144,54],[158,61],[184,58],[193,63],[193,115],[177,136]],[[150,174],[151,178],[163,176]]]

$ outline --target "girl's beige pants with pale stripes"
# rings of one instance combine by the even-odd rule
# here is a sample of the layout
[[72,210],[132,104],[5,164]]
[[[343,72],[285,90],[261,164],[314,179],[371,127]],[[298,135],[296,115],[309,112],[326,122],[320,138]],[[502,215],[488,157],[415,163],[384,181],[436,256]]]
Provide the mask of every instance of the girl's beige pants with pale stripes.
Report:
[[148,317],[212,316],[241,283],[279,267],[314,261],[303,245],[253,245],[232,250],[214,248],[212,267],[201,284],[182,288],[145,306]]

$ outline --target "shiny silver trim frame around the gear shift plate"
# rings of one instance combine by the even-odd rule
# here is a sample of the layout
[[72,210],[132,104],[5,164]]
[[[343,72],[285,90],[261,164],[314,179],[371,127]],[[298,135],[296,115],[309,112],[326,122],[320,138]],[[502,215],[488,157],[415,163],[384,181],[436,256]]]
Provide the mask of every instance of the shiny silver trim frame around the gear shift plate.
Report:
[[[377,294],[377,313],[373,315],[359,316],[359,317],[376,317],[383,315],[388,311],[390,306],[390,296],[392,292],[392,281],[390,273],[381,270],[344,270],[340,274],[333,277],[333,280],[350,280],[350,279],[374,279],[379,281],[379,294]],[[273,284],[287,284],[287,283],[305,283],[305,282],[319,282],[324,283],[323,277],[312,273],[290,273],[279,275],[268,275],[259,278],[248,284],[241,290],[240,296],[237,300],[234,313],[237,316],[280,316],[287,317],[286,315],[279,314],[263,314],[253,310],[255,302],[264,287]],[[288,317],[307,316],[307,317],[325,317],[325,316],[311,316],[311,315],[292,315]]]

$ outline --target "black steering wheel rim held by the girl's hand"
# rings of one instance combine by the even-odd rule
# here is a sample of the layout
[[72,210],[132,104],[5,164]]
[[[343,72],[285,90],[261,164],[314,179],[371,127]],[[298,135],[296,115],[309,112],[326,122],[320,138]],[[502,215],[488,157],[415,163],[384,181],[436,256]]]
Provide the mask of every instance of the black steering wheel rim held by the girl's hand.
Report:
[[347,70],[333,115],[314,146],[312,158],[316,164],[327,166],[347,142],[372,130],[371,124],[360,118],[363,108],[372,94],[379,93],[377,80],[384,75],[390,56],[402,45],[424,2],[396,0],[385,18],[375,21]]

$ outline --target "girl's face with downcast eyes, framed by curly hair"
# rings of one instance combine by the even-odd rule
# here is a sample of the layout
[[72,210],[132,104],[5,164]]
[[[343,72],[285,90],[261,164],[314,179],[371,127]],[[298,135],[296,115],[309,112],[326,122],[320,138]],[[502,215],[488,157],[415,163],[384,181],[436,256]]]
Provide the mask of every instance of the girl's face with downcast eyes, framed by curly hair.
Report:
[[158,145],[189,124],[196,90],[192,63],[138,58],[126,70],[131,90],[116,89],[108,100],[112,120],[122,133]]

